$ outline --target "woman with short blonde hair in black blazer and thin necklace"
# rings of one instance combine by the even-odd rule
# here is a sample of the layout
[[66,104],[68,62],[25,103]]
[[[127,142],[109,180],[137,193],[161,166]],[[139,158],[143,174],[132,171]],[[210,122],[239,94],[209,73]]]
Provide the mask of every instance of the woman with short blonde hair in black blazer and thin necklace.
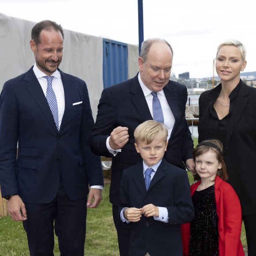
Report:
[[218,46],[216,71],[221,83],[199,98],[199,138],[219,139],[229,183],[241,201],[248,256],[256,255],[256,89],[240,79],[246,52],[237,40]]

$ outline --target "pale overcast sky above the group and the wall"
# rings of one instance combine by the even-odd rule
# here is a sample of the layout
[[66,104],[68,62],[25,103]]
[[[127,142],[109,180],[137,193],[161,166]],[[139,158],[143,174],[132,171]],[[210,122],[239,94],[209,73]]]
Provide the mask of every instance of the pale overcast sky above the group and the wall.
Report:
[[[169,41],[176,76],[212,76],[217,46],[228,38],[245,44],[245,72],[256,71],[255,6],[252,0],[144,0],[144,39]],[[51,19],[64,29],[139,43],[137,0],[0,0],[0,12],[34,22]]]

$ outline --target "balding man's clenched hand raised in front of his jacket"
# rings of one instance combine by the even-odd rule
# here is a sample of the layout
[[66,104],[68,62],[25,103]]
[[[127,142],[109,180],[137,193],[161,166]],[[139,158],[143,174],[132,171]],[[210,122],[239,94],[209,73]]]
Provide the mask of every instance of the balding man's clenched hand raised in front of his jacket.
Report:
[[128,139],[128,128],[118,126],[117,128],[113,129],[113,131],[110,133],[109,146],[113,150],[121,149],[128,142]]

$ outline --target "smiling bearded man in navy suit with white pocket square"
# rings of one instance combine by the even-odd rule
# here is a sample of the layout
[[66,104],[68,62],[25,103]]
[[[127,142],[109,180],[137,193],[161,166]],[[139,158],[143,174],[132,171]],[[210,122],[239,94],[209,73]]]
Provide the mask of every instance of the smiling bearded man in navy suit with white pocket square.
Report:
[[58,69],[63,40],[60,25],[37,23],[30,40],[35,65],[7,81],[0,96],[1,193],[11,218],[23,221],[31,256],[53,255],[54,230],[61,255],[83,256],[87,207],[102,199],[101,162],[89,147],[87,86]]

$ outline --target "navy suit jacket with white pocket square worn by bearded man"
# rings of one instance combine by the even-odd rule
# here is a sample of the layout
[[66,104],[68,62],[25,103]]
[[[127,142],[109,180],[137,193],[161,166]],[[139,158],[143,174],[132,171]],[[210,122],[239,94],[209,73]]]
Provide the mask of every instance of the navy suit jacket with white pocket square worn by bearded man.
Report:
[[[100,159],[89,147],[94,121],[87,86],[75,76],[60,74],[65,111],[59,132],[32,68],[4,84],[0,96],[2,196],[19,194],[24,202],[48,203],[56,195],[60,177],[72,200],[87,196],[88,182],[103,185]],[[77,102],[81,103],[74,105]]]

